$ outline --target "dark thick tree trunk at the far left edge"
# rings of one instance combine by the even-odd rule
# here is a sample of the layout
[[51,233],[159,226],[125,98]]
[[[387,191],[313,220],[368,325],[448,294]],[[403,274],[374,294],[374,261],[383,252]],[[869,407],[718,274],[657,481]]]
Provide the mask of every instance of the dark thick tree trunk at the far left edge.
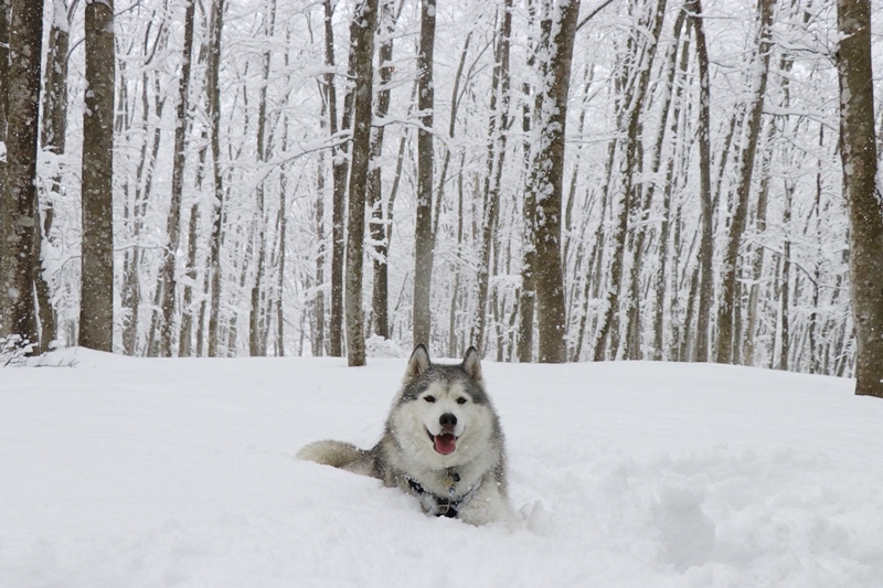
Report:
[[[0,10],[6,12],[6,7]],[[6,191],[0,193],[0,336],[18,336],[22,346],[39,342],[32,259],[39,247],[36,143],[42,43],[43,2],[13,0],[9,62],[3,64],[9,68],[3,81],[8,82],[3,86],[7,96],[2,97],[9,118]]]

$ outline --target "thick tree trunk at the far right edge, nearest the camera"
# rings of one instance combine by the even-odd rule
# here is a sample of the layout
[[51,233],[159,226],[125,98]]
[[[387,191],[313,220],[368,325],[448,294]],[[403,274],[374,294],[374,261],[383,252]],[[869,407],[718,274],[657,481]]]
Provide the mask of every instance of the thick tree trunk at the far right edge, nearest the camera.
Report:
[[871,1],[838,0],[840,153],[849,206],[855,394],[883,398],[883,193],[876,181]]

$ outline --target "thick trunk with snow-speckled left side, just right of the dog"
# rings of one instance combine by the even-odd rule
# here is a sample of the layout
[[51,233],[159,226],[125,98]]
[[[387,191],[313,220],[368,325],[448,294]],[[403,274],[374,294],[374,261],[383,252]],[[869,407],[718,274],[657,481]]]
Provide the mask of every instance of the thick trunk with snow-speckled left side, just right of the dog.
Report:
[[561,260],[561,201],[564,175],[564,138],[571,86],[573,42],[579,0],[546,2],[541,24],[541,85],[534,117],[540,138],[534,145],[533,171],[528,191],[536,199],[533,235],[536,250],[534,277],[539,321],[539,359],[567,361],[565,343],[564,275]]

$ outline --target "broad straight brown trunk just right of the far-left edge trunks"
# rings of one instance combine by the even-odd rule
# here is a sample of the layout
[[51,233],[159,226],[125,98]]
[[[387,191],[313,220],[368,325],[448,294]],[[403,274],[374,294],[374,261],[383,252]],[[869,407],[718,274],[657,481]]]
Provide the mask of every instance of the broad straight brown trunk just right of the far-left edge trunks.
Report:
[[86,4],[79,344],[114,344],[114,1]]

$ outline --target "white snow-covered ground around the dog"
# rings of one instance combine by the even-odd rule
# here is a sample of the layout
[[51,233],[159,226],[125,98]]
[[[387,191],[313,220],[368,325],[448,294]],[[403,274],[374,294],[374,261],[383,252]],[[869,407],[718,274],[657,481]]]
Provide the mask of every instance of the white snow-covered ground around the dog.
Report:
[[673,363],[485,362],[521,527],[295,458],[402,359],[62,350],[0,378],[0,586],[883,586],[883,402]]

